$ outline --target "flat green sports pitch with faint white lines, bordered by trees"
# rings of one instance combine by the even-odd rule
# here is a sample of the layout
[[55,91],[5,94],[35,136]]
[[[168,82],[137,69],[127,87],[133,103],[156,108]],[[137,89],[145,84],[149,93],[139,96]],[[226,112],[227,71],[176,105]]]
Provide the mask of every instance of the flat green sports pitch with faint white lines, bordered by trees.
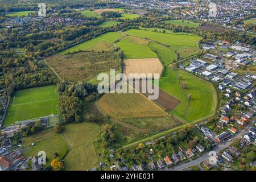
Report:
[[18,90],[11,98],[4,126],[50,114],[59,114],[55,85]]

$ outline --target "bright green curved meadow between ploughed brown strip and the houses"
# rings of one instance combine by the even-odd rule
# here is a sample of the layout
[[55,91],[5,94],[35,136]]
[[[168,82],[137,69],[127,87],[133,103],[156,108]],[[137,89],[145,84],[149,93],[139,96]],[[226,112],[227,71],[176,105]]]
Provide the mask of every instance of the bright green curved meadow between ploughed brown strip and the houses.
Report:
[[[192,94],[189,107],[187,95],[179,84],[179,76],[181,82],[188,84],[188,89],[185,89],[187,95]],[[159,87],[181,101],[172,113],[185,121],[195,122],[206,119],[216,110],[218,98],[213,85],[187,72],[166,68],[163,77],[159,80]]]

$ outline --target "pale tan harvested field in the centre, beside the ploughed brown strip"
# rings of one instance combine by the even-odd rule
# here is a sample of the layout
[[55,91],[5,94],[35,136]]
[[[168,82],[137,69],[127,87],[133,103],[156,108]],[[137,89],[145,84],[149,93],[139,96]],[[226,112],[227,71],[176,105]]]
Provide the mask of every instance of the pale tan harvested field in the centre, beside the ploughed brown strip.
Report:
[[125,74],[128,77],[129,73],[159,73],[163,70],[163,65],[158,58],[144,58],[144,59],[126,59],[125,60]]

